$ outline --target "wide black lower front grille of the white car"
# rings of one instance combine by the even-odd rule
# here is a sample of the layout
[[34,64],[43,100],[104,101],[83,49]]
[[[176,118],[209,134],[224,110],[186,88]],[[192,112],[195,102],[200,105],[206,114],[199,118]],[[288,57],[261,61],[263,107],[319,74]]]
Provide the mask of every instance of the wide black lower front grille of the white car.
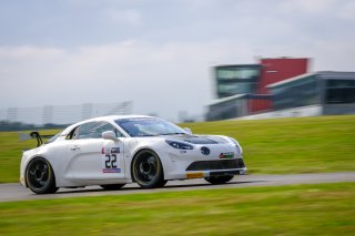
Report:
[[245,164],[242,158],[217,160],[217,161],[199,161],[193,162],[186,171],[215,171],[230,168],[244,168]]

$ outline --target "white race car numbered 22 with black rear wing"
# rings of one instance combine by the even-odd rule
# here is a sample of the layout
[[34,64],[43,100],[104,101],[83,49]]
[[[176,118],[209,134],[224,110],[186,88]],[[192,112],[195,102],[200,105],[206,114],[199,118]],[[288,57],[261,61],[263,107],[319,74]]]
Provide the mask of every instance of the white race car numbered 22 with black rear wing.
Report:
[[[36,133],[36,132],[34,132]],[[103,116],[70,125],[23,152],[20,182],[37,194],[59,187],[101,185],[119,189],[135,182],[162,187],[171,179],[224,184],[245,174],[242,147],[232,137],[194,135],[164,120]]]

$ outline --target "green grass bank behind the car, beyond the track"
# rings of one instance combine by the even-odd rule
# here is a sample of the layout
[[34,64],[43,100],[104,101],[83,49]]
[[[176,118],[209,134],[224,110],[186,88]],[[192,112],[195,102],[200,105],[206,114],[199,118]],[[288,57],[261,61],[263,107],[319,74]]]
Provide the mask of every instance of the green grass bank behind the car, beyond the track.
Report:
[[[250,173],[355,171],[355,116],[320,116],[182,124],[196,134],[240,141]],[[54,134],[58,131],[45,131]],[[36,146],[0,132],[0,183],[18,182],[21,152]]]

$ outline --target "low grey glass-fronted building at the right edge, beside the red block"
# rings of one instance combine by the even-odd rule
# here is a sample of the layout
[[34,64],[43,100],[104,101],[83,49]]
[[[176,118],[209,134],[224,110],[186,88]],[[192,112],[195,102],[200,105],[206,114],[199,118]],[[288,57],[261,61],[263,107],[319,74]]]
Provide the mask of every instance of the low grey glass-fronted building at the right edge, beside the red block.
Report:
[[[355,113],[355,72],[322,71],[267,86],[274,111],[317,107],[317,115]],[[304,109],[303,109],[304,107]]]

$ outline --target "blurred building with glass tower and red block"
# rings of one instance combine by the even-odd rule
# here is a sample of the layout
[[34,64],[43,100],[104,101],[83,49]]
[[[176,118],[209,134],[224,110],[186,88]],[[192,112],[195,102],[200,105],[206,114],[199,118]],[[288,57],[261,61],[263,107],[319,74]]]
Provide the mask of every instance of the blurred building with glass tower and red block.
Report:
[[308,59],[261,59],[258,64],[214,68],[217,100],[209,105],[207,121],[272,111],[268,85],[307,72]]

